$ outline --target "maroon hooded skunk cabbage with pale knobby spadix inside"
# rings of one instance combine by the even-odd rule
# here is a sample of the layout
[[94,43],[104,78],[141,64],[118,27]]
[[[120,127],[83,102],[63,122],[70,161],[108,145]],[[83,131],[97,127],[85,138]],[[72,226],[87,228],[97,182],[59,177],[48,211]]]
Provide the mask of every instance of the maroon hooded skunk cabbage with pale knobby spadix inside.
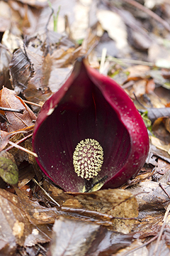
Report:
[[117,188],[135,176],[145,164],[149,138],[120,85],[81,59],[42,106],[33,149],[57,186],[85,192]]

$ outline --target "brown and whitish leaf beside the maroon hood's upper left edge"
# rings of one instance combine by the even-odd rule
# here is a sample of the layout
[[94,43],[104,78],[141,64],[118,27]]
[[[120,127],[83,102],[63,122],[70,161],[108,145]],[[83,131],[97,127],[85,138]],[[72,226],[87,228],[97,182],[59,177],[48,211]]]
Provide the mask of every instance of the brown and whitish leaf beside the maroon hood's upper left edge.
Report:
[[79,57],[81,48],[59,48],[52,55],[47,54],[42,65],[35,70],[35,75],[28,82],[24,91],[27,100],[42,103],[47,100],[53,92],[57,92],[72,70],[74,60]]

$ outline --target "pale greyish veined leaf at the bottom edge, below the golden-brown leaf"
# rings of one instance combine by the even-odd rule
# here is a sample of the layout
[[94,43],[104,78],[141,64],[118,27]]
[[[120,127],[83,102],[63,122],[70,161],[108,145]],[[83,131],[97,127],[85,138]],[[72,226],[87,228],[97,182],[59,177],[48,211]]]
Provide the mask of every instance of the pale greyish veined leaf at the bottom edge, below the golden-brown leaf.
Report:
[[60,217],[53,226],[50,251],[52,256],[111,255],[130,245],[132,236],[114,233],[92,223]]

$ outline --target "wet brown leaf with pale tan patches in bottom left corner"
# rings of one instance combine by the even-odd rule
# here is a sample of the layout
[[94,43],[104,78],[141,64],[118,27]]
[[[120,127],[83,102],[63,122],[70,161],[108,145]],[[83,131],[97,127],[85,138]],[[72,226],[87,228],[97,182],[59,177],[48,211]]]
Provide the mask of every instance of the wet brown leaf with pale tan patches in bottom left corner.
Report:
[[1,255],[12,255],[17,245],[33,246],[50,241],[50,227],[30,223],[18,196],[3,189],[0,189],[0,215]]

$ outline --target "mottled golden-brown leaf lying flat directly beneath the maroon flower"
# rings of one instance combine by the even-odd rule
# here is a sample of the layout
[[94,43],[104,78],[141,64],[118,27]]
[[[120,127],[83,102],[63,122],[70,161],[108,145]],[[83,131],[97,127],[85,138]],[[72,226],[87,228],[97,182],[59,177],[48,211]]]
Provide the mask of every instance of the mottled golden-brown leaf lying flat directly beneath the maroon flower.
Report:
[[[113,220],[103,218],[103,225],[109,225],[111,229],[118,232],[129,233],[136,223],[134,219],[121,220],[121,218],[135,218],[138,215],[137,201],[128,191],[109,189],[93,193],[68,194],[48,183],[45,183],[45,190],[62,206],[62,210],[66,213],[73,208],[72,213],[77,212],[82,218],[86,215],[86,217],[100,220],[101,217],[97,213],[103,214],[103,217],[104,215],[113,216]],[[74,214],[72,217],[74,218]],[[107,221],[105,223],[104,220],[111,221],[112,225]]]

